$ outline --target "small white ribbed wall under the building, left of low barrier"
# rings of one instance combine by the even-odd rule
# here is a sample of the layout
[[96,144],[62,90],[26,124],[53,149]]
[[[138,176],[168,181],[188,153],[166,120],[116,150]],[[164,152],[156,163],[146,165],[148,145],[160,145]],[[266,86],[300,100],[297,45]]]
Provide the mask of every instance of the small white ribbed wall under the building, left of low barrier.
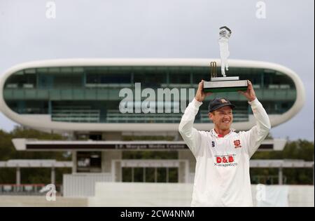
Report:
[[111,182],[111,173],[64,174],[63,193],[65,197],[94,196],[96,182]]

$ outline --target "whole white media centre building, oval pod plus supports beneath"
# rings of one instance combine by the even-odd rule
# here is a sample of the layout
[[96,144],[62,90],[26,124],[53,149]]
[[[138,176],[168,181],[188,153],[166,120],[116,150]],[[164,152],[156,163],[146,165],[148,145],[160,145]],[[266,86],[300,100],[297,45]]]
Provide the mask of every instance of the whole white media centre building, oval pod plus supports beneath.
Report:
[[[64,194],[80,195],[78,185],[91,194],[94,182],[100,181],[193,182],[195,158],[177,129],[197,84],[210,78],[209,64],[214,61],[220,70],[218,59],[27,62],[1,74],[0,111],[29,128],[71,134],[66,141],[13,139],[20,151],[71,151],[73,174],[64,175]],[[302,109],[304,87],[292,70],[269,62],[229,63],[228,76],[251,80],[272,126]],[[248,130],[255,124],[243,96],[218,93],[200,107],[195,128],[213,127],[207,107],[214,96],[237,106],[233,128]],[[285,144],[286,140],[265,140],[259,150],[281,150]],[[148,150],[159,151],[149,153],[154,160],[146,159]]]

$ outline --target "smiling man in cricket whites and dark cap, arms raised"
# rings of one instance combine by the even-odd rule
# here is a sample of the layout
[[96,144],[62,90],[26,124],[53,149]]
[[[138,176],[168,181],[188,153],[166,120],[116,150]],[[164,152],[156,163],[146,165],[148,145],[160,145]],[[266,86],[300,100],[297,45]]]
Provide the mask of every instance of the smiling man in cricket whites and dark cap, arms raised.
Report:
[[[223,81],[221,86],[223,91],[226,90],[224,81],[228,80],[223,76],[219,81]],[[179,124],[179,133],[197,161],[191,206],[253,206],[249,159],[269,133],[269,117],[256,98],[251,81],[246,81],[246,89],[239,90],[239,93],[244,95],[253,110],[256,125],[251,130],[236,133],[230,127],[235,105],[225,98],[214,98],[209,104],[213,129],[207,132],[193,128],[199,107],[212,94],[211,86],[208,91],[205,90],[206,82],[202,80],[199,83],[195,98]],[[239,89],[231,83],[228,87],[227,91],[230,88]]]

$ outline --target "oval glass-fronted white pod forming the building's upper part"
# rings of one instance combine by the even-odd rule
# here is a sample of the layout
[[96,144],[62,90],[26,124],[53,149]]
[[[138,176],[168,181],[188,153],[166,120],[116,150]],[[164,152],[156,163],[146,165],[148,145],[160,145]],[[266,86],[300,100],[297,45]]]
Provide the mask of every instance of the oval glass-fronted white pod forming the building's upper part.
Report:
[[[201,79],[209,79],[209,64],[217,59],[66,59],[43,60],[16,65],[1,74],[0,111],[8,118],[38,130],[69,132],[177,131],[184,107],[195,95]],[[269,62],[230,60],[228,76],[253,82],[258,99],[269,114],[272,126],[288,121],[304,104],[304,87],[292,70]],[[141,83],[135,87],[135,83]],[[123,88],[133,93],[133,113],[121,113]],[[151,112],[141,107],[144,89],[151,88]],[[158,99],[160,90],[169,88],[179,100]],[[145,91],[146,92],[146,91]],[[173,93],[174,92],[174,93]],[[136,95],[138,93],[138,97]],[[141,97],[142,93],[142,97]],[[166,91],[167,93],[167,91]],[[171,94],[167,94],[171,96]],[[141,98],[139,98],[139,95]],[[153,94],[154,95],[154,94]],[[167,96],[166,95],[166,96]],[[220,93],[237,105],[236,130],[248,130],[255,121],[244,98],[238,93]],[[154,97],[154,96],[153,96]],[[195,127],[209,130],[207,102],[197,115]],[[138,99],[138,100],[137,100]],[[154,100],[155,99],[155,100]],[[158,105],[172,107],[171,113],[158,113]],[[180,108],[179,113],[174,109]],[[153,107],[153,108],[152,108]],[[155,109],[155,111],[153,111]]]

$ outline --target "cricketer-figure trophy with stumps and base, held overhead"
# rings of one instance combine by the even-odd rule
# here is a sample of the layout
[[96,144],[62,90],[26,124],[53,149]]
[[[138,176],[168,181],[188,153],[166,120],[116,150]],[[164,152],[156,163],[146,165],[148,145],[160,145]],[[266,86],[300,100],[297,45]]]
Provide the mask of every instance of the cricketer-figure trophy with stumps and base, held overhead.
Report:
[[229,38],[231,36],[231,30],[226,27],[220,27],[218,43],[220,46],[221,57],[221,74],[222,77],[218,77],[216,73],[216,62],[210,63],[210,81],[204,81],[204,92],[219,93],[219,92],[235,92],[246,91],[247,81],[239,80],[239,76],[226,76],[225,69],[228,71],[228,57],[230,51],[228,48]]

